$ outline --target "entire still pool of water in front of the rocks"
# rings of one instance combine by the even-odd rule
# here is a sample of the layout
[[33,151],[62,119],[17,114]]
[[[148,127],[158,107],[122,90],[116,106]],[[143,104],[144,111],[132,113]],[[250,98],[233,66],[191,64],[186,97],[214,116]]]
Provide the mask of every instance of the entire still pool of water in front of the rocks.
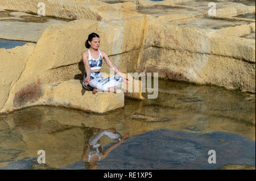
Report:
[[0,115],[0,169],[224,166],[255,169],[255,94],[160,80],[158,98],[105,114],[39,106]]

